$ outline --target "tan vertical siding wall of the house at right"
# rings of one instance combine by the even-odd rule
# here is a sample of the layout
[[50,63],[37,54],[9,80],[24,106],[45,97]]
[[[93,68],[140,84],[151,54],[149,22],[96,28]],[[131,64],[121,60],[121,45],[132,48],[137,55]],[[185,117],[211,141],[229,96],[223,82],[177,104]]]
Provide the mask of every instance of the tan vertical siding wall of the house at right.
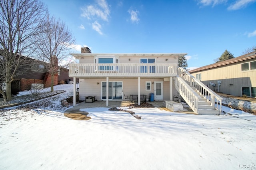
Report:
[[240,61],[229,65],[223,65],[205,71],[198,71],[191,73],[194,77],[196,74],[201,73],[202,83],[209,85],[210,82],[215,83],[215,88],[209,86],[210,89],[218,91],[217,81],[221,81],[219,92],[230,94],[234,96],[242,95],[242,87],[256,87],[256,70],[242,71],[241,64],[256,61],[250,59],[246,61]]

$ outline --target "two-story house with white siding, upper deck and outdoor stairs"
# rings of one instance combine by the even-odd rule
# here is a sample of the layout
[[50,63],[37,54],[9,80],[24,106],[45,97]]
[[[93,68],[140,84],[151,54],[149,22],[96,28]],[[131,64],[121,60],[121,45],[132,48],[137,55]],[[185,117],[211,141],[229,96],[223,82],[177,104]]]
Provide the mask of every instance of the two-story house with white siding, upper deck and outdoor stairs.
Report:
[[[185,82],[189,77],[188,72],[178,68],[178,58],[187,53],[90,53],[87,47],[81,51],[71,53],[79,59],[79,63],[69,65],[69,76],[74,79],[74,96],[75,80],[79,78],[80,100],[84,101],[86,96],[95,96],[95,100],[106,101],[108,106],[108,101],[124,101],[124,95],[152,94],[154,100],[173,101],[174,95],[179,93],[198,113],[201,100],[199,94],[188,91],[194,91],[192,86],[199,87],[200,81],[195,82],[191,77],[188,81],[193,81],[193,85],[188,85]],[[215,96],[212,91],[208,94]],[[211,109],[216,109],[206,95],[201,96]]]

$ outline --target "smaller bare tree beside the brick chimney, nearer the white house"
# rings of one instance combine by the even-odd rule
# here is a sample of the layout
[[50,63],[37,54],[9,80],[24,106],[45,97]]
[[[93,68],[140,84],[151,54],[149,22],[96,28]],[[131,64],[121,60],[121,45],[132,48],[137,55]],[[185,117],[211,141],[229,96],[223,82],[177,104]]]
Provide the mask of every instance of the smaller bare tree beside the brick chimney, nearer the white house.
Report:
[[53,91],[54,75],[58,74],[58,63],[68,57],[75,39],[64,22],[54,16],[50,17],[49,14],[44,27],[41,28],[41,34],[37,36],[39,41],[36,42],[36,51],[51,76],[51,91]]

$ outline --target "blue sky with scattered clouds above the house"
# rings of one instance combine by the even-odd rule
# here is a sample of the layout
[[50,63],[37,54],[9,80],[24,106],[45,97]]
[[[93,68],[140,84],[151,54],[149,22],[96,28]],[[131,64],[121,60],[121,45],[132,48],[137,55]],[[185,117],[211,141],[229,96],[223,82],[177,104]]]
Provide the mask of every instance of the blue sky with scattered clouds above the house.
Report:
[[256,0],[43,0],[75,47],[92,53],[188,53],[188,69],[256,45]]

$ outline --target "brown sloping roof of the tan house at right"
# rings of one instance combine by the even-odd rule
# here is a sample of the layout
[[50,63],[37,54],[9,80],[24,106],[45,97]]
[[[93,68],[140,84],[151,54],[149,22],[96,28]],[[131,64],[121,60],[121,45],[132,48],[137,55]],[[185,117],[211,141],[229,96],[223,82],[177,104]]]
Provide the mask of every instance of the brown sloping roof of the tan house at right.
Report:
[[189,73],[195,73],[195,72],[198,72],[198,71],[203,71],[203,70],[206,70],[206,69],[212,69],[212,68],[215,68],[215,67],[220,67],[220,66],[223,66],[223,65],[228,65],[228,64],[232,64],[232,63],[236,63],[236,62],[240,62],[240,61],[245,61],[245,60],[253,59],[253,58],[256,58],[256,51],[245,54],[245,55],[241,55],[239,57],[228,59],[228,60],[225,60],[225,61],[220,61],[218,63],[213,63],[213,64],[206,65],[206,66],[203,66],[203,67],[199,67],[197,69],[193,69],[193,70],[190,70],[188,72]]

